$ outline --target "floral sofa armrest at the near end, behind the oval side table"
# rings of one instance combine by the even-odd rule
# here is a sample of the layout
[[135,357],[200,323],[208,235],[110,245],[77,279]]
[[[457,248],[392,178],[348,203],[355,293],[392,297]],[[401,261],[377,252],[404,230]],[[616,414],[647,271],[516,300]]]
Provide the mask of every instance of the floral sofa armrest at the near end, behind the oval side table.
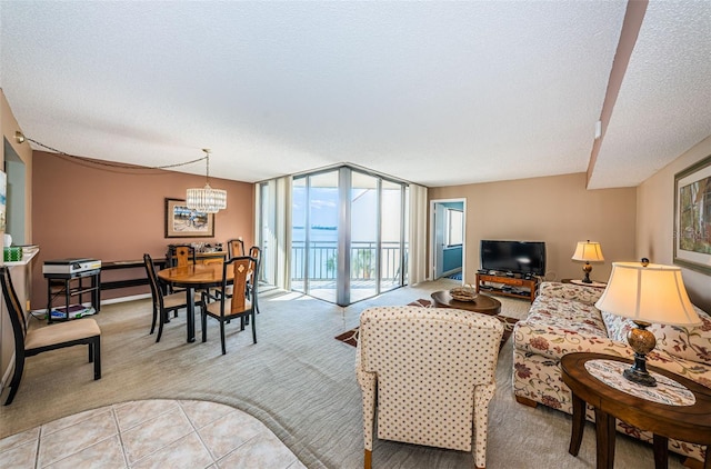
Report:
[[598,352],[633,358],[634,352],[625,342],[607,337],[582,335],[573,329],[517,322],[513,328],[513,343],[518,350],[560,360],[565,353]]

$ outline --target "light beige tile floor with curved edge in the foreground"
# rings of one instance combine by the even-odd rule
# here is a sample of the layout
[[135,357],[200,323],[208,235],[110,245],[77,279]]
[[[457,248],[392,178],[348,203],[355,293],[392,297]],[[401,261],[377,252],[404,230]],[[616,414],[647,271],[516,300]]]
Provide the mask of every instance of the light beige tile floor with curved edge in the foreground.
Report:
[[0,440],[0,468],[304,468],[253,417],[194,400],[89,410]]

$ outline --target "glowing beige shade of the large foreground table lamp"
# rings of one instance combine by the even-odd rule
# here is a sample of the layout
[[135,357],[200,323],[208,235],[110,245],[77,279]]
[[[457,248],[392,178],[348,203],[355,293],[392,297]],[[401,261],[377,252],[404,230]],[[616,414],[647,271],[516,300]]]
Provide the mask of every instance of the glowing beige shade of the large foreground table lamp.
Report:
[[681,269],[674,266],[612,262],[608,287],[595,307],[637,321],[661,325],[701,322],[687,295]]

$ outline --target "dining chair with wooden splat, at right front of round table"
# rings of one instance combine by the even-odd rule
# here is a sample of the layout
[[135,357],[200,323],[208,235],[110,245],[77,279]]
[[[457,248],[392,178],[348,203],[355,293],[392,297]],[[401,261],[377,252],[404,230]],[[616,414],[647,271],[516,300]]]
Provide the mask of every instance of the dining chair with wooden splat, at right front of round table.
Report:
[[[232,319],[240,319],[240,330],[244,330],[244,325],[249,319],[252,323],[252,343],[257,343],[257,325],[254,321],[254,306],[257,305],[257,290],[252,292],[251,301],[247,299],[247,280],[250,276],[250,266],[256,266],[259,270],[259,263],[254,258],[240,256],[226,260],[222,265],[222,293],[218,296],[218,300],[208,302],[208,295],[203,293],[202,311],[202,341],[208,340],[208,316],[220,322],[220,342],[222,343],[222,355],[227,353],[224,341],[224,323]],[[230,281],[228,281],[228,272],[233,272],[233,295],[226,295]]]

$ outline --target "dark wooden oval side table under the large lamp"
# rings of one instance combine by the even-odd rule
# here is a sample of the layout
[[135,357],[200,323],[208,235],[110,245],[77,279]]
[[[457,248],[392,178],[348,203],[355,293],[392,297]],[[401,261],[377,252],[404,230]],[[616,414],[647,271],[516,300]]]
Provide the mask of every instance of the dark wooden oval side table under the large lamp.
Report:
[[[585,363],[604,366],[614,362],[631,365],[631,360],[602,353],[569,353],[561,361],[563,382],[573,395],[573,422],[569,452],[578,456],[585,425],[585,402],[595,411],[595,437],[598,469],[612,469],[614,465],[615,419],[625,421],[654,435],[654,467],[668,467],[669,438],[699,445],[711,445],[711,389],[695,381],[660,368],[649,367],[650,372],[665,377],[675,383],[672,392],[677,400],[662,403],[654,397],[643,398],[605,383],[599,373],[593,376]],[[592,369],[592,368],[591,368]],[[594,372],[594,371],[593,371]],[[608,373],[609,375],[609,373]],[[613,375],[613,378],[617,373]],[[631,383],[627,379],[624,385]],[[679,386],[681,385],[681,386]],[[662,385],[660,385],[662,386]],[[641,387],[644,388],[644,387]],[[683,391],[685,388],[685,392]],[[647,389],[651,391],[652,389]],[[644,391],[643,391],[644,392]],[[704,466],[711,469],[711,457],[707,452]]]

